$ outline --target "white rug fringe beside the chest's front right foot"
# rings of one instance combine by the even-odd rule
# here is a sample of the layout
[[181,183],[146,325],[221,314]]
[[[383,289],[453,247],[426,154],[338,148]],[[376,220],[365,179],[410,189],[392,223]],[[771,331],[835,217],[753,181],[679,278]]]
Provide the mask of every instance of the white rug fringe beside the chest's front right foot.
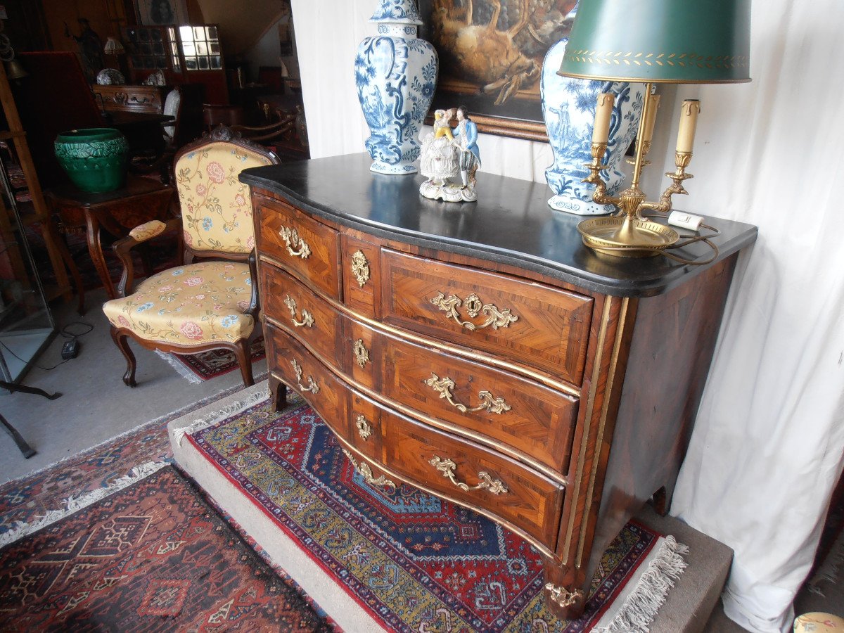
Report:
[[683,555],[689,548],[677,543],[673,536],[665,537],[657,556],[647,566],[636,587],[621,605],[618,614],[607,626],[594,629],[595,633],[647,633],[648,626],[665,602],[668,590],[688,563]]

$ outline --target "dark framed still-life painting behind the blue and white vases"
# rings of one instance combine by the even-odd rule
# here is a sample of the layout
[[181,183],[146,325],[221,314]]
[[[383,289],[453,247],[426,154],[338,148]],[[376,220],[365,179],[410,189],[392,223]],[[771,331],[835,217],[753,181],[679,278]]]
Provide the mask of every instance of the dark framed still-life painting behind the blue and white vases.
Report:
[[539,100],[545,53],[576,0],[419,0],[419,37],[440,58],[431,111],[466,106],[481,132],[547,141]]

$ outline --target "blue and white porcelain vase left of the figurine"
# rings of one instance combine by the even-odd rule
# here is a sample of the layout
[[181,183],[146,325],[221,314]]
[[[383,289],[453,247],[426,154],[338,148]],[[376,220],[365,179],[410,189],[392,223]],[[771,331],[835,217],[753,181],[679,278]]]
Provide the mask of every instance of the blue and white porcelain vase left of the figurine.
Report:
[[436,51],[416,37],[422,24],[416,0],[380,0],[370,22],[378,24],[378,35],[362,41],[354,57],[354,83],[371,132],[365,143],[375,161],[370,169],[414,174],[419,129],[436,87]]

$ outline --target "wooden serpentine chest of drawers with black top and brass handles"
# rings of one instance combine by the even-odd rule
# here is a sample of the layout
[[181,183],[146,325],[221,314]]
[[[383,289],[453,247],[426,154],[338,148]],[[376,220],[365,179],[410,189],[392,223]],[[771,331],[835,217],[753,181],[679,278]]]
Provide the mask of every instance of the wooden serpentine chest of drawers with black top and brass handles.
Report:
[[542,184],[481,175],[478,203],[441,203],[370,162],[241,174],[273,402],[300,392],[371,485],[414,484],[526,538],[549,606],[576,615],[609,541],[670,500],[756,230],[708,219],[720,252],[702,266],[600,258]]

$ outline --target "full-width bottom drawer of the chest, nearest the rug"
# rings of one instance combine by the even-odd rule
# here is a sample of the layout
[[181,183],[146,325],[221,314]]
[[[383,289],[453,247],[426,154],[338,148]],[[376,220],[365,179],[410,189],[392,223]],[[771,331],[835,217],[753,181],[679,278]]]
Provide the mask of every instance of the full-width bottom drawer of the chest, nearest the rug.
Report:
[[268,327],[268,339],[271,366],[279,377],[376,468],[381,463],[410,484],[485,508],[538,543],[553,544],[563,503],[561,484],[363,397],[277,327]]

